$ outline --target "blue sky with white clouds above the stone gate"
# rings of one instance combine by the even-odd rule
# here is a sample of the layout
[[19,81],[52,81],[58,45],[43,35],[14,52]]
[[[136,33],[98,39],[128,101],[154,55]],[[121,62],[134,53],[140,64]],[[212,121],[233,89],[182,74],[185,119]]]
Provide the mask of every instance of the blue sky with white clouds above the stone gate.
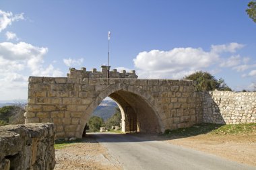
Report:
[[195,71],[234,90],[256,81],[256,24],[249,1],[0,1],[0,100],[26,99],[28,77],[69,67],[135,69],[139,78]]

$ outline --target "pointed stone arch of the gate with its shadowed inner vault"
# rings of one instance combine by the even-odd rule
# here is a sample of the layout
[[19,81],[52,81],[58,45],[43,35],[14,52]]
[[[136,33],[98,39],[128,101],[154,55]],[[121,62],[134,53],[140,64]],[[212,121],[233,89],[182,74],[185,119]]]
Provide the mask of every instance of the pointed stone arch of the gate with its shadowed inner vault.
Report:
[[81,137],[84,126],[92,112],[101,103],[105,97],[114,99],[121,109],[122,114],[122,131],[138,131],[138,132],[162,132],[164,127],[158,114],[158,103],[154,97],[143,89],[132,87],[129,85],[115,84],[110,85],[104,91],[95,97],[90,103],[88,109],[80,118],[79,126],[77,126],[76,136]]

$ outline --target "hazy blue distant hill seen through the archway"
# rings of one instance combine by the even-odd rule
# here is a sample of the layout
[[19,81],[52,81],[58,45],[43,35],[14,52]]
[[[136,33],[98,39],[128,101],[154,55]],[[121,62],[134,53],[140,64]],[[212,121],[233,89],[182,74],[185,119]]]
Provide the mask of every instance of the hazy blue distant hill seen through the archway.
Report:
[[92,116],[98,116],[102,118],[103,120],[107,120],[110,118],[113,114],[115,114],[115,108],[117,108],[118,105],[113,100],[103,100],[100,105],[94,110],[92,113]]

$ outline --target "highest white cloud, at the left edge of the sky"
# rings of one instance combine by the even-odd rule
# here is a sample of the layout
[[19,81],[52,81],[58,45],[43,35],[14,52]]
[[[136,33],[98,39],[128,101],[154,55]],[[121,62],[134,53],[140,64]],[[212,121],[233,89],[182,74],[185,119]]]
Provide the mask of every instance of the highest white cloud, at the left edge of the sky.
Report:
[[12,22],[24,19],[24,13],[13,15],[11,12],[0,10],[0,32],[5,30]]

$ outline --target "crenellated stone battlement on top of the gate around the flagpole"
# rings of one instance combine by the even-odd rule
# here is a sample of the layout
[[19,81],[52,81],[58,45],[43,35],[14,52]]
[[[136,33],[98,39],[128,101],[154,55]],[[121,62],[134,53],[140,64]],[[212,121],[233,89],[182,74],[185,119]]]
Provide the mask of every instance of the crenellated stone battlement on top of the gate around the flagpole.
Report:
[[[97,71],[97,69],[92,69],[92,71],[86,71],[85,67],[82,67],[80,70],[77,70],[75,68],[69,68],[69,73],[67,73],[67,77],[70,78],[91,78],[91,79],[106,79],[107,78],[107,72],[108,69],[110,69],[110,66],[101,66],[101,71]],[[112,71],[109,71],[109,77],[110,79],[137,79],[137,75],[135,73],[135,70],[131,70],[129,73],[127,73],[125,70],[121,71],[119,73],[117,69],[113,69]]]

